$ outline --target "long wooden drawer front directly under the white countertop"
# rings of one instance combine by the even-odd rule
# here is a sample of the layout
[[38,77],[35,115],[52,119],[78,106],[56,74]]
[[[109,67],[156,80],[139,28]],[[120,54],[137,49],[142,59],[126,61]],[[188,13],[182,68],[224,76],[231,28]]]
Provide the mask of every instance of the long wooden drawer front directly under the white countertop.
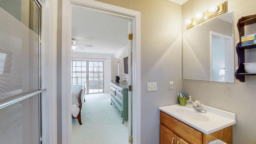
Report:
[[160,111],[160,123],[191,144],[202,144],[202,132]]

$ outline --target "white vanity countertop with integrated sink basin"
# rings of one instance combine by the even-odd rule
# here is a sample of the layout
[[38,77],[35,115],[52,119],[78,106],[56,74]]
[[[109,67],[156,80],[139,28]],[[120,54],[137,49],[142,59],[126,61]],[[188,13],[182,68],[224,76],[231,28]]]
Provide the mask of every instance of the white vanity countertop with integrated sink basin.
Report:
[[236,114],[203,104],[201,106],[207,113],[198,112],[179,104],[163,106],[159,110],[205,134],[211,134],[236,124]]

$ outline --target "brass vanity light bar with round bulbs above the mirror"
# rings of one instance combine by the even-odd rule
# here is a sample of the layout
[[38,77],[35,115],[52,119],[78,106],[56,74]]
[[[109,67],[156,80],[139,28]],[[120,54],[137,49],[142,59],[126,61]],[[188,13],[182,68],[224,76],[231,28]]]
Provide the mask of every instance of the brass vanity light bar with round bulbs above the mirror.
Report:
[[206,22],[212,18],[215,18],[216,16],[220,16],[221,14],[226,13],[226,7],[225,2],[222,4],[219,4],[218,6],[211,6],[210,10],[207,10],[204,13],[198,13],[196,16],[192,19],[186,20],[186,28],[187,30],[190,28],[193,28],[199,24],[202,24],[203,22]]

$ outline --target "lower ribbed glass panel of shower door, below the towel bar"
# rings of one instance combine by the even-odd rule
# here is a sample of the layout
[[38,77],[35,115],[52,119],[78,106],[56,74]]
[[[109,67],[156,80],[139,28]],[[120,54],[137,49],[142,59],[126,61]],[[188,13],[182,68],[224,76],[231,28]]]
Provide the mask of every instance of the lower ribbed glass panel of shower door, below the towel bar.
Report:
[[0,110],[0,144],[39,144],[39,96]]

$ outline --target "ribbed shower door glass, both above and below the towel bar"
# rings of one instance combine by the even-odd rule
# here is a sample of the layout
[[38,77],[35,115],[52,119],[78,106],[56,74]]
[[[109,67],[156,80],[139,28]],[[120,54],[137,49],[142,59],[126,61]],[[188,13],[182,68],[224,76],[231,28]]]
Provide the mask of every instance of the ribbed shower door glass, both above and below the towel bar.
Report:
[[[0,104],[40,88],[39,35],[0,8]],[[0,110],[0,144],[40,143],[40,94]]]

